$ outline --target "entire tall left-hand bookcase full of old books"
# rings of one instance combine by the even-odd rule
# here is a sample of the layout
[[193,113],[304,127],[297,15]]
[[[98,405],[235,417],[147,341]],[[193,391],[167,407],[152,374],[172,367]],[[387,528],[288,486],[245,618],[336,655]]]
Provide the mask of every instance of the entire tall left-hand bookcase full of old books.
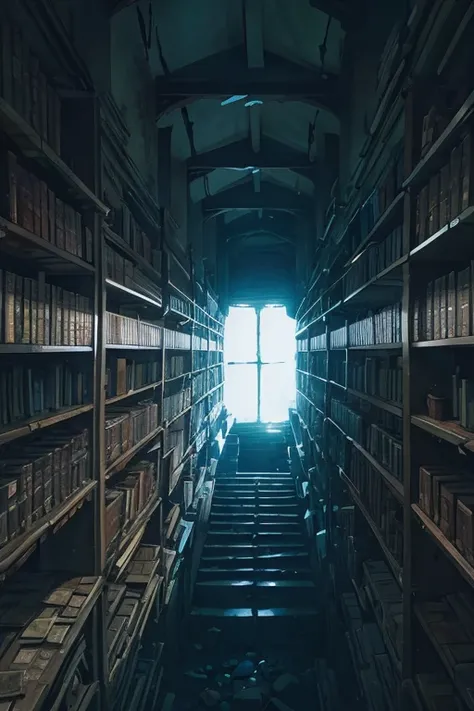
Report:
[[227,420],[224,319],[112,97],[60,97],[32,17],[0,21],[0,696],[62,708],[80,679],[77,708],[152,708]]

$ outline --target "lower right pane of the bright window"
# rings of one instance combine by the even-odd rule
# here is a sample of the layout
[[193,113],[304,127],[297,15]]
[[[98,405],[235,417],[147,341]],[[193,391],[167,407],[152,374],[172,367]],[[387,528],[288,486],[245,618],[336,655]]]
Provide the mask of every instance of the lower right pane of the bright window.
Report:
[[294,364],[263,365],[260,419],[262,422],[284,422],[288,419],[289,407],[295,407]]

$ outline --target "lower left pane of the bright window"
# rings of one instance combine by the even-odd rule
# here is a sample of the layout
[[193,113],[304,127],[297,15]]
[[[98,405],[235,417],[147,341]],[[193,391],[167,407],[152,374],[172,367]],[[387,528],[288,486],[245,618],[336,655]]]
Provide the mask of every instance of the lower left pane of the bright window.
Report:
[[225,405],[238,422],[257,421],[257,366],[228,365],[225,375]]

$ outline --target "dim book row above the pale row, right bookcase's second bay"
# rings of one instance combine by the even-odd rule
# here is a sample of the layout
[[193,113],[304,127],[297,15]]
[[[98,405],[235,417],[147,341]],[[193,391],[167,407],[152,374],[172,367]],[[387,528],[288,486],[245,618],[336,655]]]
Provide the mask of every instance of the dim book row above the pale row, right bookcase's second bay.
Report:
[[344,275],[344,296],[349,296],[400,259],[402,251],[403,228],[399,225],[382,242],[369,247],[352,264]]

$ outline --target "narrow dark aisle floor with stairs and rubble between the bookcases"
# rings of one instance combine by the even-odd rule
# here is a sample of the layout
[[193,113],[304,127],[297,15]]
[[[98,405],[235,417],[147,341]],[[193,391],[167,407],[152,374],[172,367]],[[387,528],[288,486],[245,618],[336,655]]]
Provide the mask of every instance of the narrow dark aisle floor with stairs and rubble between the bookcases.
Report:
[[239,467],[226,457],[217,474],[175,711],[319,708],[324,621],[289,472],[289,430],[274,429],[232,429]]

